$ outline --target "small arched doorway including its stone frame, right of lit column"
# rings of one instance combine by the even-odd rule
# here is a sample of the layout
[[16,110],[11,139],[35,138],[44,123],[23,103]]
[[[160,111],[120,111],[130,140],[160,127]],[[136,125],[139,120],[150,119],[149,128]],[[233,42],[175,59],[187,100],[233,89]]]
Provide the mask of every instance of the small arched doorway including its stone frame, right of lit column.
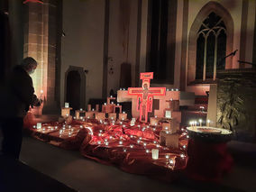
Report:
[[65,102],[73,109],[85,108],[86,75],[81,67],[69,66],[65,73]]

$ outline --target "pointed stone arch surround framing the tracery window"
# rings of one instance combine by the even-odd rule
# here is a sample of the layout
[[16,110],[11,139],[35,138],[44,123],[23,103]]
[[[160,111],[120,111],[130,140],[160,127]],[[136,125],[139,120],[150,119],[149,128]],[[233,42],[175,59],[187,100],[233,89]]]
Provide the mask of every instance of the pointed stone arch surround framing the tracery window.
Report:
[[[197,32],[206,19],[208,14],[214,12],[223,18],[224,24],[226,26],[226,53],[231,53],[233,51],[233,18],[231,14],[216,2],[209,2],[197,14],[197,17],[191,25],[191,29],[188,34],[188,59],[187,59],[187,85],[196,79],[196,65],[197,65]],[[226,59],[225,69],[232,68],[232,57]],[[189,71],[189,72],[188,72]]]

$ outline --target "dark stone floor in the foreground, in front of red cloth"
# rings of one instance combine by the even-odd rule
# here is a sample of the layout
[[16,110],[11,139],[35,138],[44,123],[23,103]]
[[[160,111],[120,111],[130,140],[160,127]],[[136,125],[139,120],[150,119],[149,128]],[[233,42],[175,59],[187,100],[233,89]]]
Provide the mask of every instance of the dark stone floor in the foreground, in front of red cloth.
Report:
[[23,138],[21,160],[42,173],[78,191],[256,191],[256,145],[230,142],[235,164],[220,184],[181,179],[165,183],[125,173],[30,137]]

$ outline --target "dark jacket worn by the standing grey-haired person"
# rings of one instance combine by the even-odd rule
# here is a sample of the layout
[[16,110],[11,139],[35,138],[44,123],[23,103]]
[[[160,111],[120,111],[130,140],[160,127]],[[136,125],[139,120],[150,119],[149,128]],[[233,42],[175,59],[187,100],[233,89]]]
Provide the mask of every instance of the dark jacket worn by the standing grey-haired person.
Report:
[[22,66],[15,66],[5,85],[1,87],[0,117],[23,117],[30,105],[39,105],[34,95],[32,78]]

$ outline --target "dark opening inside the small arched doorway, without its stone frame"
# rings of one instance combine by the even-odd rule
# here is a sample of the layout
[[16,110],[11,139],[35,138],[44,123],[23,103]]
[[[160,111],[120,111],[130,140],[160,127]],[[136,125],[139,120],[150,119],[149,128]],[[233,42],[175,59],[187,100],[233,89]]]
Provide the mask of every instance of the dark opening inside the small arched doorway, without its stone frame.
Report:
[[81,94],[81,78],[80,74],[76,70],[69,71],[67,76],[67,92],[66,92],[66,102],[74,109],[79,109],[80,104],[80,94]]

